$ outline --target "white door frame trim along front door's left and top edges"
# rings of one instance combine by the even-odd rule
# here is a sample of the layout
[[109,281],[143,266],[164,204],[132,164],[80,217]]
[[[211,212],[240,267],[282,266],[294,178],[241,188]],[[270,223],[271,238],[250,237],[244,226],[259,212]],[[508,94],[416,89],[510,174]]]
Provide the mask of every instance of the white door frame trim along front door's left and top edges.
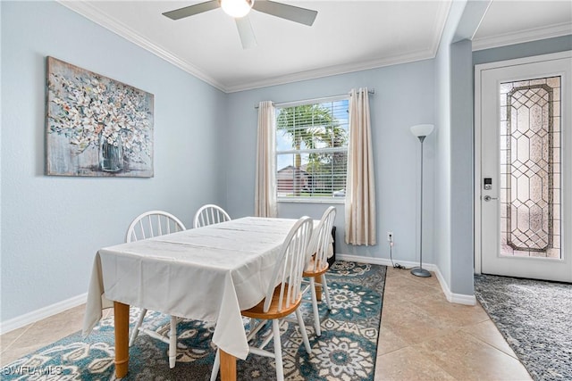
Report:
[[482,118],[481,118],[481,79],[482,73],[484,70],[491,70],[491,69],[500,69],[508,66],[517,66],[526,63],[534,63],[534,62],[543,62],[543,61],[552,61],[552,60],[559,60],[562,58],[570,58],[572,57],[572,51],[564,51],[559,53],[552,53],[552,54],[542,54],[542,55],[533,55],[530,57],[523,57],[517,58],[514,60],[508,61],[498,61],[498,62],[488,62],[488,63],[481,63],[475,65],[475,178],[473,184],[475,186],[474,192],[474,216],[475,216],[475,274],[481,274],[481,267],[482,267],[482,258],[481,258],[481,235],[483,234],[481,229],[481,129],[482,129]]

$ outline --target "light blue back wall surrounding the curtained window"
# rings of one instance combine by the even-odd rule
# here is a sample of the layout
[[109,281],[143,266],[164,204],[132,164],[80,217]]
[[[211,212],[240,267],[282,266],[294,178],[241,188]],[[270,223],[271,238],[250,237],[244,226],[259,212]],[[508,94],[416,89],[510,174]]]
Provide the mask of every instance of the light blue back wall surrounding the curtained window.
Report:
[[[274,103],[348,94],[352,87],[374,88],[370,95],[377,196],[377,240],[374,246],[345,244],[344,207],[336,204],[337,253],[388,258],[386,232],[395,236],[393,258],[418,261],[419,141],[409,127],[434,121],[433,60],[265,87],[229,95],[227,206],[239,217],[254,211],[257,110],[260,101]],[[434,140],[425,140],[424,261],[433,262]],[[319,218],[326,204],[280,203],[281,217]]]

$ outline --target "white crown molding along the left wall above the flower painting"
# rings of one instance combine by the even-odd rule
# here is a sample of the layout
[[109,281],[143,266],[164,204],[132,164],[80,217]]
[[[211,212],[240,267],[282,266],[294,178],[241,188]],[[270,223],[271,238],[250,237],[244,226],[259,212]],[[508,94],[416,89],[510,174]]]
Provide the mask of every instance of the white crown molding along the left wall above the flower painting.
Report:
[[127,39],[133,44],[146,49],[148,52],[156,54],[156,56],[163,58],[166,62],[172,63],[181,70],[184,70],[189,74],[197,77],[198,79],[205,81],[207,84],[226,92],[226,89],[222,83],[206,75],[203,71],[198,70],[189,62],[181,60],[181,58],[164,50],[160,46],[156,46],[156,44],[153,44],[147,38],[140,36],[133,29],[130,29],[124,25],[121,21],[117,21],[110,17],[108,14],[98,11],[97,8],[93,5],[81,1],[56,0],[56,2],[62,4],[66,8],[71,9],[73,12],[79,13],[80,15],[86,17],[88,20],[97,23],[105,29],[111,30],[115,34]]

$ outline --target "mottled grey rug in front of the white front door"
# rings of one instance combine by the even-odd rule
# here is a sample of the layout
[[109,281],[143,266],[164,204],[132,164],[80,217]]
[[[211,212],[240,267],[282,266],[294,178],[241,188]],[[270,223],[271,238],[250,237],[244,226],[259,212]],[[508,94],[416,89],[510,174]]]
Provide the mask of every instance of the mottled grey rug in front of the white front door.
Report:
[[572,285],[475,276],[475,296],[535,380],[572,380]]

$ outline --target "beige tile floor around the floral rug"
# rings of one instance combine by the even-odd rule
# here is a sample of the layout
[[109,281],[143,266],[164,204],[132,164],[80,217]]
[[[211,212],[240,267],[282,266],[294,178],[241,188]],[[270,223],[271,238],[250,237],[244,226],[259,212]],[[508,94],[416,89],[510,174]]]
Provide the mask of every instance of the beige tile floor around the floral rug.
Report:
[[[1,335],[0,364],[80,330],[83,311],[81,305]],[[388,268],[376,381],[530,379],[480,305],[451,304],[436,277]]]

